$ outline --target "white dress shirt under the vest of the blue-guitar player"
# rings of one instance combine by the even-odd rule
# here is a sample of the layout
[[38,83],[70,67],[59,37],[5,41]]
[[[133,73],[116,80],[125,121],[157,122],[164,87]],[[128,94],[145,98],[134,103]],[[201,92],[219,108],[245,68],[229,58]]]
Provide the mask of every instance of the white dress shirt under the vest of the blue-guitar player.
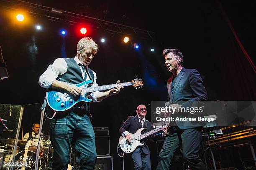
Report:
[[[77,56],[74,57],[74,60],[77,62],[77,65],[80,62],[80,60],[77,58]],[[81,63],[82,64],[82,63]],[[82,76],[84,78],[84,72],[82,70],[82,66],[79,66],[82,72]],[[50,88],[52,83],[54,82],[54,80],[56,80],[56,78],[59,75],[63,75],[65,72],[67,72],[67,62],[64,60],[64,58],[57,58],[54,63],[52,65],[49,65],[48,68],[45,70],[45,72],[40,76],[39,78],[39,85],[41,87],[44,88]],[[93,80],[93,85],[92,87],[97,87],[97,83],[96,83],[96,73],[94,71],[92,71],[94,74],[94,80]],[[86,72],[87,75],[87,72]],[[86,80],[90,80],[90,77],[87,75],[86,76]],[[96,92],[92,92],[90,93],[89,97],[90,99],[92,99],[92,101],[96,102],[97,100],[97,94],[99,93],[99,91]]]

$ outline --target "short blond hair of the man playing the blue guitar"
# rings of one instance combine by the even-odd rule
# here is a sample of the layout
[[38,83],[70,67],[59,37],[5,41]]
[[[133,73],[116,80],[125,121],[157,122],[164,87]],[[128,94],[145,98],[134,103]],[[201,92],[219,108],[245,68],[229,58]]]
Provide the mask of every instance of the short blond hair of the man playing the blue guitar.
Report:
[[92,49],[94,54],[96,54],[98,51],[98,45],[90,37],[83,37],[81,40],[79,40],[77,43],[77,51],[79,51],[78,53],[82,54],[86,47]]

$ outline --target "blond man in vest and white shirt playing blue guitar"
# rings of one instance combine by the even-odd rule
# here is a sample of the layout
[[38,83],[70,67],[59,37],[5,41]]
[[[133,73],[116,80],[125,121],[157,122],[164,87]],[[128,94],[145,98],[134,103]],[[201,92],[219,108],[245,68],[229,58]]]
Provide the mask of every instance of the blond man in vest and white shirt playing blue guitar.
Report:
[[[94,40],[84,37],[77,44],[77,55],[74,58],[57,58],[40,76],[39,85],[46,89],[63,90],[72,97],[81,95],[82,89],[76,85],[85,80],[96,83],[96,73],[88,68],[98,47]],[[120,81],[118,80],[117,83]],[[88,96],[92,101],[116,95],[123,89],[122,85],[105,92],[92,92]],[[80,170],[93,170],[96,163],[95,133],[90,122],[90,105],[82,103],[66,112],[57,113],[50,124],[50,139],[54,148],[53,170],[67,170],[71,145],[75,148]]]

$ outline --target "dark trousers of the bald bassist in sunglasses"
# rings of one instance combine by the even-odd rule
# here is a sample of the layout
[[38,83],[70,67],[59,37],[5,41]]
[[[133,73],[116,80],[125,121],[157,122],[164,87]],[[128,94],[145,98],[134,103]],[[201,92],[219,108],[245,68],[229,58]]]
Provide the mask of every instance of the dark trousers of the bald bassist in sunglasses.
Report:
[[151,170],[150,154],[143,153],[140,149],[138,152],[131,154],[134,163],[134,170]]

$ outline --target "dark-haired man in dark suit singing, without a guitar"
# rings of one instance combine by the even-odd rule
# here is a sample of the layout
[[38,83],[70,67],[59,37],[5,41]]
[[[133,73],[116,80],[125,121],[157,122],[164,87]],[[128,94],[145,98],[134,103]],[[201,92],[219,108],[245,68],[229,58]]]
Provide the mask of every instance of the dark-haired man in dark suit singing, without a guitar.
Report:
[[[183,67],[182,52],[178,49],[165,49],[163,55],[167,69],[173,74],[167,82],[170,102],[177,107],[193,107],[196,101],[207,100],[207,92],[200,73],[195,69]],[[166,136],[159,153],[157,170],[169,170],[173,165],[174,154],[180,148],[183,159],[192,170],[207,170],[199,158],[202,125],[197,122],[176,122],[176,126],[170,127],[168,132],[169,135]]]

